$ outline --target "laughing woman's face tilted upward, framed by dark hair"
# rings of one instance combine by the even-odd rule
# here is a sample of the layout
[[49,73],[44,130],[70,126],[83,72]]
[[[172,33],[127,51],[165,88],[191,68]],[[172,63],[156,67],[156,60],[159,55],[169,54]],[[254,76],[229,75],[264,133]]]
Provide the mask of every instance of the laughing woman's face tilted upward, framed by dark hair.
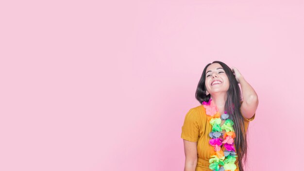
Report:
[[226,93],[229,89],[229,79],[226,72],[218,63],[209,65],[206,69],[206,95],[214,93]]

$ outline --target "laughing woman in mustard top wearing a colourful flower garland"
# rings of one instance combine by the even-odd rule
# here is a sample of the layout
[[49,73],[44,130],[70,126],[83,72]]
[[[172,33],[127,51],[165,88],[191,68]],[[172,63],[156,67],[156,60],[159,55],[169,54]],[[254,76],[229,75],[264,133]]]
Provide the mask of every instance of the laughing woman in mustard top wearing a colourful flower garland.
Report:
[[185,171],[244,171],[247,128],[258,105],[253,87],[235,67],[214,61],[195,96],[202,105],[188,111],[182,126]]

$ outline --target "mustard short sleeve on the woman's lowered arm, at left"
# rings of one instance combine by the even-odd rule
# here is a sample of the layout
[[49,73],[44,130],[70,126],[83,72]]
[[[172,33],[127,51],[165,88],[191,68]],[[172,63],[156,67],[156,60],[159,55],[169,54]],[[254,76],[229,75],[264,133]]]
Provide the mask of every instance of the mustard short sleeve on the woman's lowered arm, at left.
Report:
[[182,126],[182,138],[188,141],[197,142],[199,139],[199,117],[195,109],[190,109],[186,114]]

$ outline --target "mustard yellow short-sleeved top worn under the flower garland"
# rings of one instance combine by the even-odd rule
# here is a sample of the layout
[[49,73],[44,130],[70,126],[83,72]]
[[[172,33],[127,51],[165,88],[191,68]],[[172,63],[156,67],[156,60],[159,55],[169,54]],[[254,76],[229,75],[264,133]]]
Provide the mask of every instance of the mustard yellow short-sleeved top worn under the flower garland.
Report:
[[[252,121],[254,117],[255,113],[249,120],[243,116],[245,132],[247,132],[249,121]],[[211,155],[214,155],[215,153],[214,147],[209,144],[209,133],[211,130],[212,125],[207,120],[206,110],[203,107],[203,104],[191,108],[188,111],[185,117],[184,125],[182,126],[181,137],[188,141],[197,142],[198,161],[195,171],[211,171],[211,169],[209,169],[209,159],[211,158]],[[224,149],[224,146],[222,146],[223,151]],[[239,171],[237,160],[235,171]]]

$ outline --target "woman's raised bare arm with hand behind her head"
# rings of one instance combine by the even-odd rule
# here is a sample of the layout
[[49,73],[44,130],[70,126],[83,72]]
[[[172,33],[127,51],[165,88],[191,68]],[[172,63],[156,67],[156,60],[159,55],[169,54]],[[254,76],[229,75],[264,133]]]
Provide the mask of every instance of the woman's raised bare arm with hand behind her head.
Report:
[[236,81],[241,85],[243,103],[241,104],[241,113],[247,119],[251,119],[255,114],[255,111],[258,106],[258,97],[253,87],[247,83],[244,76],[240,74],[240,72],[232,67],[232,71],[235,73]]

